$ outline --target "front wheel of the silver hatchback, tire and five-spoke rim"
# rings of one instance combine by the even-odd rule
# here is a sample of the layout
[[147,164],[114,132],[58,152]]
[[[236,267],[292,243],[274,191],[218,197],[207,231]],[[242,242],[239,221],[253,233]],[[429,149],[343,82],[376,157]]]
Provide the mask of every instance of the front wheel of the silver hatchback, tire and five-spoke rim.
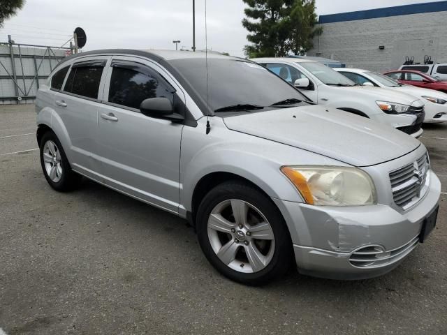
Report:
[[196,227],[207,260],[233,281],[262,285],[291,268],[284,218],[254,186],[228,181],[213,188],[198,207]]

